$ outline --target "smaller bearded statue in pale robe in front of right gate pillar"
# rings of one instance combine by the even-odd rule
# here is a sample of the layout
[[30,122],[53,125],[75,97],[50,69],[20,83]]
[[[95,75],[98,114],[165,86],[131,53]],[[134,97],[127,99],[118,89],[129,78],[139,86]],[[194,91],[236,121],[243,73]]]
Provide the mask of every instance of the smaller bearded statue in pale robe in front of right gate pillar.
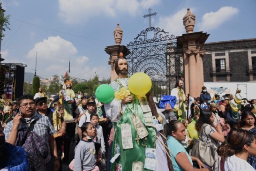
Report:
[[173,112],[175,113],[176,117],[179,120],[186,119],[186,96],[183,91],[183,81],[177,80],[174,89],[172,89],[171,96],[175,96],[177,98],[176,104],[173,107]]

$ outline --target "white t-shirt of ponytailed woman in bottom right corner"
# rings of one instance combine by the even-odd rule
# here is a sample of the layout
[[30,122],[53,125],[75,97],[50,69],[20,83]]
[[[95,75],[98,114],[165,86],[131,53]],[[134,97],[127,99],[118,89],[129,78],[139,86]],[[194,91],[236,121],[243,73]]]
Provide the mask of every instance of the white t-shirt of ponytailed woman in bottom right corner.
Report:
[[248,164],[246,160],[235,155],[227,157],[224,167],[225,171],[255,171],[255,169]]

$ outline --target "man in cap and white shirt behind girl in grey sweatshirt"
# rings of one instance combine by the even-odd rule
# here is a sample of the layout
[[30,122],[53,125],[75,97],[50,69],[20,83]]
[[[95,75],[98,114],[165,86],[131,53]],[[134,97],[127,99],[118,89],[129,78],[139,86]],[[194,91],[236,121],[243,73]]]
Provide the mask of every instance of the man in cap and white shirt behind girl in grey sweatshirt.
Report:
[[83,114],[83,116],[81,116],[81,119],[80,119],[79,124],[78,124],[77,134],[78,134],[78,137],[79,137],[80,140],[82,138],[82,129],[81,129],[81,127],[82,127],[83,123],[90,122],[90,115],[95,112],[95,109],[96,109],[95,100],[90,99],[87,103],[87,110],[88,111],[84,112],[84,114]]

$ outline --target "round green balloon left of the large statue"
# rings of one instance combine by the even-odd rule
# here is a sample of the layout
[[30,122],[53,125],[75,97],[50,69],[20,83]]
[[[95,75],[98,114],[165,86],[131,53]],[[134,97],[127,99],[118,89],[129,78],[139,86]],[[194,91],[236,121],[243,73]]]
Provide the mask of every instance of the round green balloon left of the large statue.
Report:
[[96,98],[102,103],[109,103],[114,99],[114,89],[108,84],[101,84],[95,92]]

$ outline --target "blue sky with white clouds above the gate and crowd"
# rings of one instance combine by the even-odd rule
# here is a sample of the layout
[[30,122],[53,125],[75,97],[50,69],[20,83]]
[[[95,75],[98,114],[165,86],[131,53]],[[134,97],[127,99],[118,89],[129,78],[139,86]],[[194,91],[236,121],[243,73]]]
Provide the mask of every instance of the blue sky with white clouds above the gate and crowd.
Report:
[[206,42],[256,38],[256,0],[0,0],[10,15],[1,43],[3,63],[26,64],[25,72],[49,78],[64,75],[110,77],[105,47],[115,45],[113,31],[123,30],[128,45],[149,27],[143,15],[156,12],[151,26],[181,36],[187,8],[196,15],[194,32],[210,34]]

